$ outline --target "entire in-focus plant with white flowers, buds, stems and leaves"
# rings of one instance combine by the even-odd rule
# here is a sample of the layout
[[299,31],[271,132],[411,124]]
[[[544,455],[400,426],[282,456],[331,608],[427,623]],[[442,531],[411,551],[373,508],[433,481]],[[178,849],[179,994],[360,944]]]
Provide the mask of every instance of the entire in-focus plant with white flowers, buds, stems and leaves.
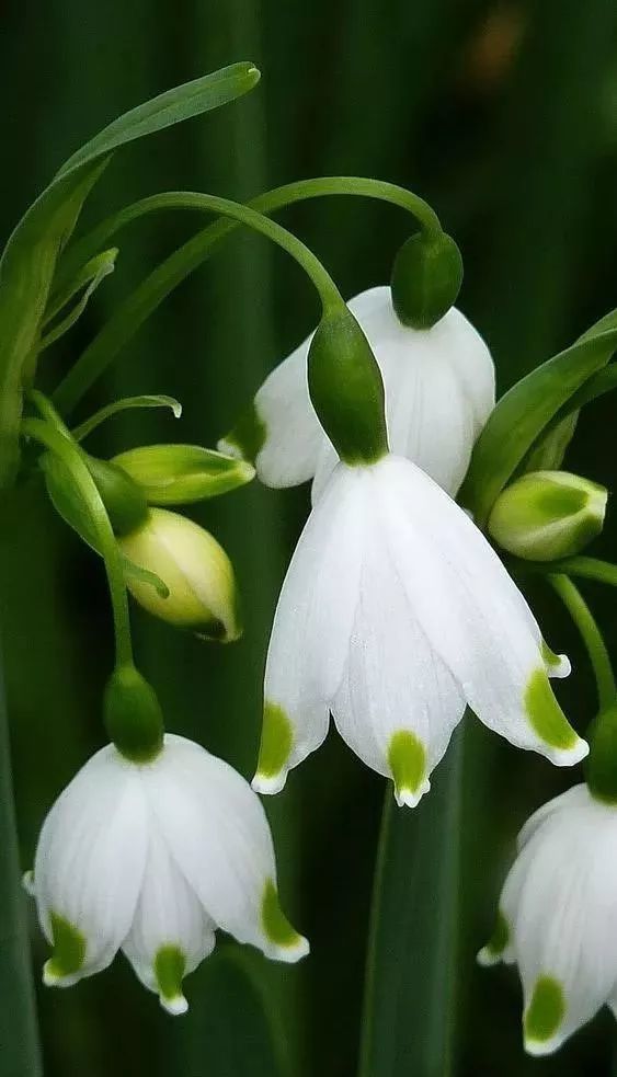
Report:
[[[252,65],[233,65],[121,117],[65,164],[0,265],[0,480],[9,489],[34,469],[101,559],[116,645],[101,704],[108,743],[59,794],[26,875],[52,948],[44,981],[71,986],[122,950],[163,1007],[181,1013],[183,978],[219,928],[274,960],[306,956],[278,903],[259,794],[282,790],[332,717],[359,760],[391,782],[386,797],[414,809],[469,709],[513,749],[560,767],[586,760],[583,781],[524,827],[479,954],[482,964],[516,962],[524,1043],[546,1054],[601,1006],[617,1005],[617,700],[608,651],[570,578],[614,573],[579,557],[602,530],[607,492],[559,470],[561,458],[535,463],[549,459],[556,431],[573,433],[563,422],[575,394],[617,347],[615,313],[495,403],[493,357],[455,307],[461,254],[416,195],[358,177],[290,184],[250,206],[176,192],[140,211],[198,206],[226,218],[227,232],[261,232],[317,289],[315,331],[279,365],[273,356],[218,450],[128,445],[112,460],[93,457],[90,433],[116,412],[181,411],[171,398],[128,398],[75,426],[72,406],[112,355],[93,369],[87,353],[52,397],[36,388],[39,353],[70,331],[122,257],[122,249],[101,250],[117,218],[73,239],[113,153],[232,101],[258,78]],[[390,282],[345,302],[316,254],[267,216],[307,192],[362,194],[407,211]],[[276,488],[311,480],[312,511],[274,615],[251,789],[204,746],[165,732],[155,687],[136,668],[129,596],[170,630],[214,646],[237,640],[233,566],[186,511],[255,474]],[[525,568],[555,588],[581,630],[598,684],[589,733],[553,692],[570,662],[542,635],[522,589]],[[411,907],[415,896],[407,895]]]

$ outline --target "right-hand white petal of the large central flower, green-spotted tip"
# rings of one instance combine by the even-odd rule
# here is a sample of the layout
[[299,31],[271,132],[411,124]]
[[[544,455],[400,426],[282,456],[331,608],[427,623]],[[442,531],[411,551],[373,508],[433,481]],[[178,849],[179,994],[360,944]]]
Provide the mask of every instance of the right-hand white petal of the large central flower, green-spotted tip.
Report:
[[377,486],[401,584],[478,718],[564,766],[589,752],[550,691],[539,628],[484,537],[439,486],[387,457]]

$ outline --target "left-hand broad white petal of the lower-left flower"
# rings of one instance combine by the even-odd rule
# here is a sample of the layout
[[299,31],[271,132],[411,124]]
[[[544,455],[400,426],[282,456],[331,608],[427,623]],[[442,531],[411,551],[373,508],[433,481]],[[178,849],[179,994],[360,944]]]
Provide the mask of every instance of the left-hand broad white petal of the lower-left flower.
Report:
[[47,939],[56,942],[55,955],[45,967],[46,983],[68,986],[113,961],[133,920],[146,849],[146,804],[138,769],[110,745],[65,789],[38,840],[34,866],[38,916]]

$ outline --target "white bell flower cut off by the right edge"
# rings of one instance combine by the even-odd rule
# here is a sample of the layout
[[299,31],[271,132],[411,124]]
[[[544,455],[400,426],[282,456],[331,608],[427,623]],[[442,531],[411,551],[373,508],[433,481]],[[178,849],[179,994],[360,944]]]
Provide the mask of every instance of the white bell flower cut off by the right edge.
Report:
[[551,1054],[607,1004],[617,1013],[617,806],[585,784],[549,801],[518,857],[481,964],[516,962],[525,1049]]

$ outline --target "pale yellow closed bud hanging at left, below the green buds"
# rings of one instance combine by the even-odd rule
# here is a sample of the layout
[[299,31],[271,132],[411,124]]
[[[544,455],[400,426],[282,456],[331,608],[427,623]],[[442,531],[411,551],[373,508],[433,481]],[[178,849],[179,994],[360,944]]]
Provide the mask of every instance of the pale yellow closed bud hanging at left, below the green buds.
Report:
[[162,598],[149,583],[127,576],[128,589],[148,612],[203,639],[227,643],[239,638],[233,568],[208,531],[178,513],[151,508],[146,522],[118,545],[169,588],[169,597]]

